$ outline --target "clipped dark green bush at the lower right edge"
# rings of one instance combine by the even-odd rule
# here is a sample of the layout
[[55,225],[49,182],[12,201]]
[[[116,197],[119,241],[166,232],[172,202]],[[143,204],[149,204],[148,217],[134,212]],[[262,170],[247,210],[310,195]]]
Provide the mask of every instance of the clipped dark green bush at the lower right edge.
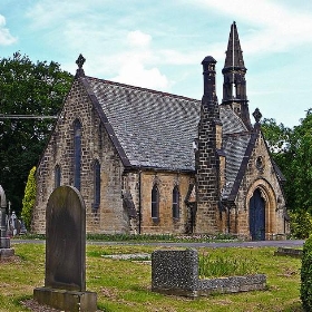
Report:
[[302,252],[300,298],[305,311],[312,311],[312,236],[310,236]]

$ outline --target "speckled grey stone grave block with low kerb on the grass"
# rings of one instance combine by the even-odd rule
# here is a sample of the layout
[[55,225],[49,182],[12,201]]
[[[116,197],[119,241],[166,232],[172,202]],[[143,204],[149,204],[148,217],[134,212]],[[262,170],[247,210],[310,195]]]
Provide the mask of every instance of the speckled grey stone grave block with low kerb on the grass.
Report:
[[196,298],[264,290],[265,286],[264,274],[201,280],[196,250],[155,251],[152,254],[152,290],[158,293]]

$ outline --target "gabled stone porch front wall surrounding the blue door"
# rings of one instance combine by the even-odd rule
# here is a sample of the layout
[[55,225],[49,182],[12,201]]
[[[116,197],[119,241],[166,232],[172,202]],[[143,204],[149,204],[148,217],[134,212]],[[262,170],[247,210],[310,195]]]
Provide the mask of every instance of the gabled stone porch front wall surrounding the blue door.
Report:
[[248,206],[254,191],[261,189],[265,201],[265,238],[272,240],[276,234],[289,232],[284,221],[285,201],[277,181],[263,135],[260,134],[247,164],[235,201],[236,211],[232,212],[231,228],[242,237],[250,237]]

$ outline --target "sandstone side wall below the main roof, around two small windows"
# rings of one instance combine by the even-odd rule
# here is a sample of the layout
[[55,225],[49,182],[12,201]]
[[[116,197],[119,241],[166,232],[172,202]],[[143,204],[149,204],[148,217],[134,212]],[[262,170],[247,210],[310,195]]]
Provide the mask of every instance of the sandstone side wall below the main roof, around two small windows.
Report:
[[[194,183],[194,177],[183,173],[142,170],[126,174],[124,189],[131,193],[137,215],[140,214],[142,217],[140,223],[138,220],[136,222],[136,233],[185,233],[189,218],[185,198],[191,183]],[[155,184],[159,191],[159,217],[157,220],[152,218],[152,189]],[[173,217],[173,189],[175,186],[179,192],[177,218]]]

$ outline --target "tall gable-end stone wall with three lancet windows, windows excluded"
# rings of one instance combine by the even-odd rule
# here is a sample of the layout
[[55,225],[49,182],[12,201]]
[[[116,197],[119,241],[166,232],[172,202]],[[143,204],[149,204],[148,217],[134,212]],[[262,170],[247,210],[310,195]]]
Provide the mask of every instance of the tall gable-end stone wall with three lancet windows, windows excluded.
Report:
[[[37,169],[37,198],[32,230],[45,233],[47,201],[55,189],[55,168],[60,166],[61,185],[74,185],[74,123],[81,124],[81,187],[87,208],[87,232],[120,233],[129,228],[129,220],[123,209],[121,174],[119,156],[100,125],[92,103],[80,79],[76,79],[65,101],[55,131]],[[94,208],[94,164],[101,168],[100,206]]]

